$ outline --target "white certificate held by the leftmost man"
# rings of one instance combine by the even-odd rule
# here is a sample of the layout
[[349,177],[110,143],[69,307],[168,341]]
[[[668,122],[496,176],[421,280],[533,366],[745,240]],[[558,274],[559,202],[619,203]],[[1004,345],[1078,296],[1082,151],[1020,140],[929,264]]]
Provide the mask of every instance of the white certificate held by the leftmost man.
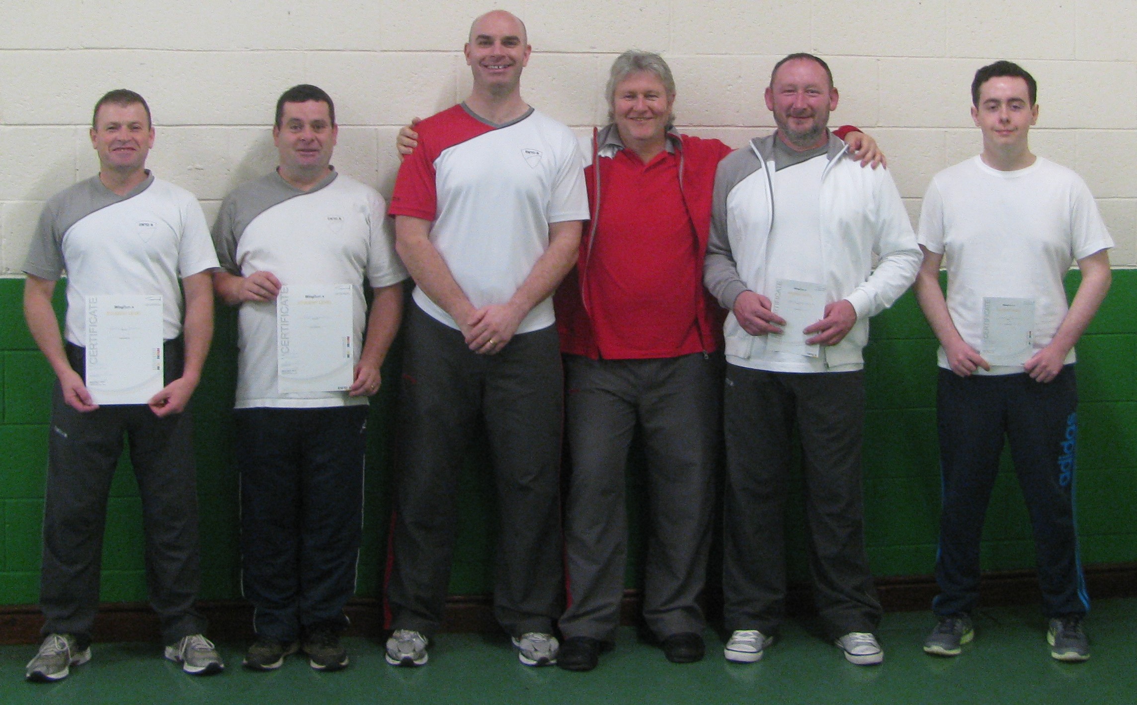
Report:
[[146,404],[163,387],[160,296],[86,297],[86,389],[96,404]]

